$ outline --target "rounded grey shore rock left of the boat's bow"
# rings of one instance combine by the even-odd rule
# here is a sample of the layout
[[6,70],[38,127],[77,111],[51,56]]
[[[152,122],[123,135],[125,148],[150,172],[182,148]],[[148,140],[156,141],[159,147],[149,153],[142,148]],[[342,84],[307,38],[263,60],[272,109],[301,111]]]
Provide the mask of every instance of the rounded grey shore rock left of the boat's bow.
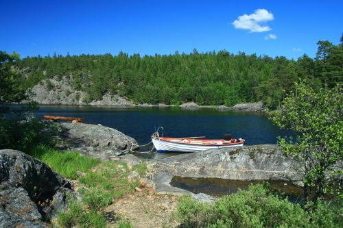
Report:
[[116,129],[86,123],[60,123],[61,149],[77,149],[84,155],[109,160],[138,148],[137,141]]

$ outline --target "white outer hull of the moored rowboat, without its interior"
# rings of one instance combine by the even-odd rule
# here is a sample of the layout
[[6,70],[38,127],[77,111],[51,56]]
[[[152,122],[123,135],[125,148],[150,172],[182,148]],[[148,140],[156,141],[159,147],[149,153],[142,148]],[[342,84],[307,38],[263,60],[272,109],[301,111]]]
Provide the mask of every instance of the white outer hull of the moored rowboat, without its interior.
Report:
[[205,145],[205,144],[185,144],[179,142],[170,142],[167,140],[162,140],[160,138],[152,138],[152,142],[154,143],[154,147],[156,151],[163,153],[163,152],[197,152],[197,151],[206,151],[209,149],[222,149],[228,147],[241,147],[244,145],[244,141],[236,142],[232,144],[218,144],[218,145]]

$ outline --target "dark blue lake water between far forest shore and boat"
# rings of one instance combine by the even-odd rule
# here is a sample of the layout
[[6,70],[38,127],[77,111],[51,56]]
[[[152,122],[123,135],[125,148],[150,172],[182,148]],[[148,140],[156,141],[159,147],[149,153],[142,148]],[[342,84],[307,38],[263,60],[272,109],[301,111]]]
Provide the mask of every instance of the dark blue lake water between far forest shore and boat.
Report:
[[35,114],[41,118],[44,115],[82,117],[84,123],[113,127],[139,144],[150,142],[150,136],[159,126],[164,128],[164,136],[222,138],[224,134],[231,134],[233,138],[244,138],[247,145],[274,144],[276,136],[289,135],[272,125],[266,114],[222,112],[215,108],[40,105]]

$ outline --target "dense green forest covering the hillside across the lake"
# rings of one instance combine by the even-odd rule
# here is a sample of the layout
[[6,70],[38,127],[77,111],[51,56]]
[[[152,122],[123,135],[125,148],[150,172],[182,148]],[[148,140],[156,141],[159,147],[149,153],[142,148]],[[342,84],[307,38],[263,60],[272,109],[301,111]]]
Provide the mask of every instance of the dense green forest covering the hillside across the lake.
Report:
[[294,86],[306,79],[311,87],[333,87],[342,81],[340,45],[318,42],[316,58],[303,55],[297,61],[228,51],[174,55],[54,55],[23,58],[16,62],[28,74],[26,88],[43,79],[66,75],[75,90],[88,92],[86,102],[106,93],[119,94],[137,103],[177,105],[235,105],[264,101],[272,109]]

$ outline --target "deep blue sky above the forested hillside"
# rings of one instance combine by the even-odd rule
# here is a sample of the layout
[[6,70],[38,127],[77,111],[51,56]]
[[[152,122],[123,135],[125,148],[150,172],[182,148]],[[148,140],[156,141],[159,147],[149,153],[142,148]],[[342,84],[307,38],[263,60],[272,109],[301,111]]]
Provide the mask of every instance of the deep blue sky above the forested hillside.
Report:
[[0,1],[0,50],[21,57],[196,48],[297,59],[343,32],[343,1]]

